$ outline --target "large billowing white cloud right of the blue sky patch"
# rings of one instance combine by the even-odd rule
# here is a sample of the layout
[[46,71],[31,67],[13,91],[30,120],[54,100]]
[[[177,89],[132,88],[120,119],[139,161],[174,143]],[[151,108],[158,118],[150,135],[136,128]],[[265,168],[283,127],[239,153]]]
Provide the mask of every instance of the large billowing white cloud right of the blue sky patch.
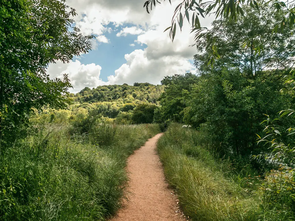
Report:
[[108,77],[109,84],[159,84],[167,75],[196,72],[195,67],[189,62],[196,54],[196,48],[190,46],[194,43],[194,35],[189,34],[189,23],[184,23],[182,32],[178,32],[174,42],[171,41],[169,32],[163,32],[171,22],[174,12],[171,9],[174,8],[175,5],[158,5],[155,8],[153,16],[147,22],[147,30],[139,34],[135,41],[147,47],[125,55],[126,63],[115,70],[114,75]]

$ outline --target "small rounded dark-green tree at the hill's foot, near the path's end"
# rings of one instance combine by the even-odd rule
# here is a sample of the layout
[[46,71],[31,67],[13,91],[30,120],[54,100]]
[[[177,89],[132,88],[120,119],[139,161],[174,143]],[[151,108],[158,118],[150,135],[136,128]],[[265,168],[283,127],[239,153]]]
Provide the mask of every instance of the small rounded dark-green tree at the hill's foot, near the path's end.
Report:
[[157,108],[154,104],[140,104],[133,111],[133,123],[153,123],[154,110]]

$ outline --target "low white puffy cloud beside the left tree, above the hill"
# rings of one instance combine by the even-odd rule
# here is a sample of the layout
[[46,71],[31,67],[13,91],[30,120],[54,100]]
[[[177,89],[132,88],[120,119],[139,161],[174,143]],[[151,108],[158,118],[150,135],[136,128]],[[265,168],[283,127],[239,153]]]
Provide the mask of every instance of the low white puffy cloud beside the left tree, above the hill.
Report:
[[70,89],[71,93],[76,93],[85,87],[96,88],[106,83],[99,78],[101,66],[94,63],[83,65],[79,60],[75,62],[63,63],[57,61],[56,64],[50,64],[47,73],[51,78],[63,78],[63,74],[68,74],[74,89]]

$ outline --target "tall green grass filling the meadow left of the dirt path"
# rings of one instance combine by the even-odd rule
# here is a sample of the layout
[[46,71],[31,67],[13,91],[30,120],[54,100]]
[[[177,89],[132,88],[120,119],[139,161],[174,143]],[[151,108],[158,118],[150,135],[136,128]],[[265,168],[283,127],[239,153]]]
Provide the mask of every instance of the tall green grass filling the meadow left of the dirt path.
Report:
[[97,124],[89,135],[37,126],[35,136],[2,147],[0,220],[104,220],[126,197],[127,157],[158,125]]

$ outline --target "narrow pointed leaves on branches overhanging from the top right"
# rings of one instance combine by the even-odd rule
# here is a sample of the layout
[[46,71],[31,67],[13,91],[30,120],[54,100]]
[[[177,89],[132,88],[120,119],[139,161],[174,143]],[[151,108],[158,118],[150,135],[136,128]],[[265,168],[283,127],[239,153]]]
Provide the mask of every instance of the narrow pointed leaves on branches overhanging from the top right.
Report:
[[[158,3],[165,0],[148,0],[145,1],[144,7],[146,7],[147,12],[149,13],[149,6],[152,10],[152,5],[156,6],[156,1]],[[169,0],[171,4],[171,0]],[[273,33],[277,33],[279,30],[282,31],[285,25],[288,24],[293,26],[295,24],[295,3],[294,0],[291,0],[291,4],[286,5],[283,1],[277,0],[215,0],[215,1],[204,1],[204,0],[182,0],[180,4],[178,4],[175,8],[174,15],[172,18],[171,26],[168,27],[165,31],[170,29],[170,38],[173,41],[176,35],[176,20],[178,21],[178,26],[180,30],[183,28],[184,17],[186,17],[187,21],[190,23],[192,32],[195,32],[195,40],[196,44],[199,43],[204,38],[204,33],[206,29],[201,26],[199,16],[205,17],[206,15],[215,14],[216,19],[218,18],[230,18],[232,20],[236,20],[237,16],[244,16],[244,12],[242,10],[243,4],[249,4],[255,10],[260,10],[260,6],[264,4],[268,4],[273,7],[274,11],[276,10],[287,10],[289,16],[287,18],[283,18],[280,24],[276,24],[273,27]],[[190,15],[190,12],[192,14]],[[288,20],[288,21],[287,21]],[[248,44],[245,44],[245,46]],[[263,51],[263,44],[259,46],[255,46],[255,54]]]

